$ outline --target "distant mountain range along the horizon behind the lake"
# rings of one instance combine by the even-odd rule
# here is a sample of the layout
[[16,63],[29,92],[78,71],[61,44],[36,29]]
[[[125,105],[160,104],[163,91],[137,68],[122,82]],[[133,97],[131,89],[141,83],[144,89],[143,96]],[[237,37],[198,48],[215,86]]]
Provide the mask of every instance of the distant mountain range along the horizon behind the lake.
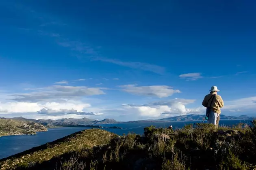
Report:
[[[201,121],[203,120],[204,115],[181,115],[181,116],[174,116],[174,117],[167,117],[163,119],[150,119],[150,120],[139,120],[139,121],[127,121],[127,122],[120,122],[116,121],[114,119],[103,119],[101,121],[99,120],[93,120],[88,119],[86,117],[82,119],[73,119],[73,118],[65,118],[65,119],[58,119],[58,120],[52,120],[52,119],[26,119],[24,117],[13,117],[11,119],[14,120],[20,120],[20,121],[33,121],[35,123],[40,123],[42,125],[45,125],[47,127],[52,126],[70,126],[70,125],[96,125],[96,124],[112,124],[112,123],[146,123],[146,122],[167,122],[167,121]],[[7,118],[1,118],[0,119],[7,119]],[[226,116],[222,115],[220,117],[221,120],[239,120],[239,119],[254,119],[254,117],[248,117],[247,115],[241,115],[239,117],[236,116]]]

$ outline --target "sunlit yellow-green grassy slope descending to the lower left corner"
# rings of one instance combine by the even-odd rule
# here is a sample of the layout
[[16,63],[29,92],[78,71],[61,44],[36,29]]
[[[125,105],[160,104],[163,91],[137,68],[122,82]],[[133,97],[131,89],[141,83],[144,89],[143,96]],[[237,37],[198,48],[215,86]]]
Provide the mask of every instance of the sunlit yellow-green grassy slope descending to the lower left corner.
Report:
[[[102,138],[104,136],[104,138]],[[116,135],[106,130],[90,129],[65,136],[53,142],[0,160],[0,169],[15,169],[19,166],[40,164],[61,155],[82,149],[108,144]],[[43,167],[41,167],[42,169]],[[44,168],[43,168],[44,169]],[[51,169],[54,169],[52,167]]]

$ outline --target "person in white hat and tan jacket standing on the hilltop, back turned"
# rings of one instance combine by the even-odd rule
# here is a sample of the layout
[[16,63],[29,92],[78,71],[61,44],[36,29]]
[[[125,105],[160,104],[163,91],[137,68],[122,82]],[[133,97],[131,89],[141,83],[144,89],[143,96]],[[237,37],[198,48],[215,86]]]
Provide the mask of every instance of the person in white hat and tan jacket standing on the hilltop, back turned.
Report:
[[210,94],[207,94],[204,97],[202,105],[206,107],[206,117],[208,117],[208,123],[213,123],[218,127],[219,119],[224,102],[221,96],[217,95],[218,88],[217,86],[212,86],[210,89]]

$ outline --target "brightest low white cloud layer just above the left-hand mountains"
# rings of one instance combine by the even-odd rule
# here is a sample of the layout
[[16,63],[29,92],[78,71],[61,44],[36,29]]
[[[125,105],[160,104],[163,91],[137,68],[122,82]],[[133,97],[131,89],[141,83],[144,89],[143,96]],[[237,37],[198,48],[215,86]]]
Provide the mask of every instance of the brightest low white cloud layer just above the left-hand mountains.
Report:
[[103,115],[100,108],[94,108],[89,103],[75,100],[66,102],[0,102],[0,116],[15,117],[26,116],[34,119],[51,119],[73,117],[91,117]]

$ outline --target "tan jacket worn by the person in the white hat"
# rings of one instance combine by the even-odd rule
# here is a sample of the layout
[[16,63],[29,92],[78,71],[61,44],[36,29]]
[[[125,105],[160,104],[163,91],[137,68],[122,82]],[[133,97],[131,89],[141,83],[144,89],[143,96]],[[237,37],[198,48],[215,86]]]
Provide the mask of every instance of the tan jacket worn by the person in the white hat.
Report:
[[[218,113],[218,114],[221,114],[221,110],[220,108],[222,108],[224,106],[224,102],[221,98],[221,96],[217,95],[215,97],[213,97],[212,99],[210,99],[211,96],[213,96],[215,93],[210,93],[210,94],[207,94],[205,97],[204,97],[204,100],[202,102],[202,105],[204,107],[210,107],[210,110],[213,110],[214,113]],[[210,99],[210,100],[209,100]],[[209,100],[209,102],[208,102]],[[210,106],[210,103],[212,102],[213,100],[213,103],[212,105]],[[208,102],[208,106],[207,106],[207,102]]]

